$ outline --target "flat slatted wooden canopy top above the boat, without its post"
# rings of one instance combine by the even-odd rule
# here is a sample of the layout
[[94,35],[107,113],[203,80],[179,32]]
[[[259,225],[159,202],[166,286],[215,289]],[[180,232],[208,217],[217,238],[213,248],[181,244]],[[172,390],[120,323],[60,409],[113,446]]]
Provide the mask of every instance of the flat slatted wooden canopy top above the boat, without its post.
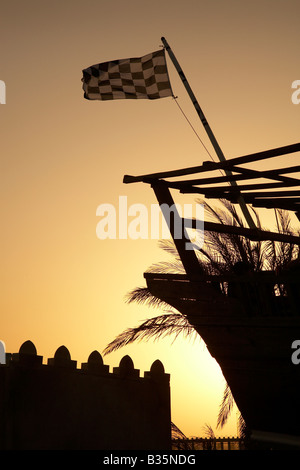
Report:
[[[203,194],[206,198],[227,199],[232,203],[238,202],[242,196],[246,203],[254,207],[282,208],[295,212],[300,220],[300,179],[286,176],[300,172],[300,165],[277,168],[267,171],[252,170],[241,165],[270,159],[300,151],[300,143],[280,147],[251,155],[232,158],[225,162],[204,162],[200,166],[182,168],[179,170],[152,173],[141,176],[124,176],[124,183],[144,182],[153,184],[160,182],[168,188],[179,190],[181,193]],[[202,176],[194,179],[172,180],[169,178],[186,177],[196,173],[225,171],[224,176]],[[255,183],[244,183],[256,180]],[[263,180],[263,181],[262,181]],[[222,186],[220,183],[241,181],[238,186]],[[262,181],[262,182],[261,182]],[[268,191],[266,191],[268,190]]]

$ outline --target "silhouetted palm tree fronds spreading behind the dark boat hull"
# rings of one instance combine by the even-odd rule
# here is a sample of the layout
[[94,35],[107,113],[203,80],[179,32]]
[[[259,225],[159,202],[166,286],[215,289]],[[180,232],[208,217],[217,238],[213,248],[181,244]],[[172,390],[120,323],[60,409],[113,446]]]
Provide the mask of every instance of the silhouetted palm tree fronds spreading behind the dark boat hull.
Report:
[[[221,200],[221,207],[214,208],[205,200],[198,200],[198,203],[204,205],[206,220],[213,220],[225,225],[243,227],[243,221],[240,218],[233,204],[226,200]],[[261,221],[258,213],[251,207],[255,218],[257,228],[261,229]],[[283,210],[276,210],[276,220],[278,232],[290,235],[299,235],[291,227],[289,213]],[[170,240],[160,242],[162,249],[173,255],[171,262],[161,262],[152,265],[148,272],[154,273],[185,273],[178,252]],[[274,241],[250,241],[249,239],[230,233],[217,233],[212,231],[205,232],[204,247],[196,252],[199,261],[199,269],[206,274],[221,275],[232,271],[232,268],[238,262],[244,262],[251,266],[255,272],[263,270],[278,271],[285,268],[293,259],[299,258],[299,246],[287,242]],[[226,284],[221,284],[224,294],[227,293]],[[134,341],[148,340],[152,338],[162,338],[170,334],[175,338],[180,334],[189,337],[198,336],[194,327],[188,322],[187,318],[161,299],[153,296],[147,287],[137,287],[127,295],[127,302],[136,302],[138,304],[147,304],[151,307],[164,308],[162,315],[150,318],[139,326],[128,328],[118,335],[111,343],[107,345],[104,354],[108,354]],[[228,384],[226,384],[223,400],[220,405],[217,426],[223,427],[232,410],[234,399]],[[239,419],[241,433],[244,431],[244,422],[242,417]]]

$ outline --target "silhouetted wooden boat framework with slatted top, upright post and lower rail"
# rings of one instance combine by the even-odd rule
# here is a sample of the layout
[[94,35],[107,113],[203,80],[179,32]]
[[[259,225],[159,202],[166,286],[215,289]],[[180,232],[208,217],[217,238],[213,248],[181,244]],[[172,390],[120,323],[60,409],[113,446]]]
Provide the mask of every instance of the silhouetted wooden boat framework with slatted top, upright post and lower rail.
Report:
[[[165,171],[160,173],[152,173],[141,176],[124,176],[124,183],[144,182],[151,184],[160,205],[174,203],[170,193],[170,189],[177,189],[181,193],[200,193],[205,197],[227,199],[232,203],[237,203],[242,195],[246,203],[252,204],[254,207],[264,208],[281,208],[294,211],[300,220],[300,179],[288,174],[300,173],[300,165],[289,166],[286,168],[276,168],[274,170],[258,171],[243,168],[240,165],[245,163],[256,162],[263,159],[278,157],[293,152],[300,151],[300,143],[280,147],[277,149],[258,152],[243,157],[232,158],[231,160],[219,163],[204,162],[201,166],[182,168],[179,170]],[[185,179],[177,181],[168,181],[166,178],[176,178],[188,176],[196,173],[205,173],[215,170],[226,171],[224,176],[209,176],[194,179]],[[240,184],[239,186],[218,185],[219,183],[229,183],[232,181],[261,180],[267,179],[267,182],[255,182]],[[200,187],[197,185],[201,185]],[[286,189],[290,188],[290,189]],[[291,189],[293,188],[293,189]],[[296,189],[295,189],[296,188]],[[272,189],[273,191],[264,191]],[[277,190],[277,191],[276,191]],[[250,192],[252,191],[252,192]],[[197,228],[196,221],[182,219],[181,223],[185,228]],[[275,233],[258,228],[246,228],[228,226],[225,224],[216,224],[212,222],[203,222],[204,230],[214,231],[218,233],[231,233],[239,236],[245,236],[250,240],[273,240],[278,242],[294,243],[300,245],[300,237],[291,236],[284,233]],[[199,225],[198,225],[199,227]],[[171,235],[174,239],[172,227],[170,227]],[[189,277],[194,277],[197,271],[197,265],[192,252],[187,252],[184,248],[184,240],[174,239],[177,250],[183,261],[186,272]]]

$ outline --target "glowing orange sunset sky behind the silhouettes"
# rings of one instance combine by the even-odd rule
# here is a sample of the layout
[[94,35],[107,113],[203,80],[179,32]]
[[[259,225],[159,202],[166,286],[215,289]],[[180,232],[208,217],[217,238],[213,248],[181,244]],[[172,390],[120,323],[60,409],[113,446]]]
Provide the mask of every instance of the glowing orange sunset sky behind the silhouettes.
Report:
[[[165,36],[226,158],[299,142],[297,0],[11,0],[0,2],[1,329],[8,352],[30,339],[46,361],[65,345],[86,362],[118,333],[160,311],[127,305],[144,271],[166,258],[157,240],[99,240],[100,204],[156,202],[125,174],[201,165],[205,149],[173,98],[87,101],[82,69],[158,50]],[[167,56],[178,102],[211,150]],[[277,166],[263,161],[258,168]],[[297,164],[299,153],[285,158]],[[279,163],[280,164],[280,163]],[[174,195],[176,198],[176,194]],[[263,211],[265,226],[273,213]],[[201,340],[128,346],[136,368],[171,374],[172,420],[188,436],[216,430],[225,382]]]

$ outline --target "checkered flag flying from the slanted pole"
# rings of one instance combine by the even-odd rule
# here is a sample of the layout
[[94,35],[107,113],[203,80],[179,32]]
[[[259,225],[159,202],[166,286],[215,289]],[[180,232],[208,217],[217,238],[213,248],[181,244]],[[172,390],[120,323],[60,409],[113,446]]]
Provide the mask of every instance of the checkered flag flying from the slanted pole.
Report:
[[88,100],[173,96],[164,49],[143,57],[92,65],[82,72],[84,98]]

